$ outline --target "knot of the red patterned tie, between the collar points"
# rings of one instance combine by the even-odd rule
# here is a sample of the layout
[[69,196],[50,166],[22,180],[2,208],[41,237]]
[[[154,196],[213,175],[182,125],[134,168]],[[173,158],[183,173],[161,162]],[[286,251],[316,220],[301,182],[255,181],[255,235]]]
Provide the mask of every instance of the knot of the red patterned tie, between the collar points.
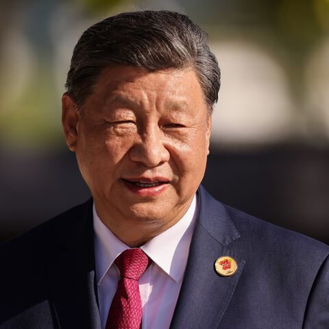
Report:
[[127,249],[114,263],[119,267],[121,278],[138,281],[149,266],[150,259],[141,248]]

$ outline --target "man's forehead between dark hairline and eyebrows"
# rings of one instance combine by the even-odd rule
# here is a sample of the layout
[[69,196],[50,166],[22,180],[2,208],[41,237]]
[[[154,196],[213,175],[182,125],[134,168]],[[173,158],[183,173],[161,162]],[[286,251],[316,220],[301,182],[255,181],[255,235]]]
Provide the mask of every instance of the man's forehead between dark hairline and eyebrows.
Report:
[[136,66],[109,66],[101,71],[88,101],[157,101],[204,103],[195,71],[164,69],[145,71]]

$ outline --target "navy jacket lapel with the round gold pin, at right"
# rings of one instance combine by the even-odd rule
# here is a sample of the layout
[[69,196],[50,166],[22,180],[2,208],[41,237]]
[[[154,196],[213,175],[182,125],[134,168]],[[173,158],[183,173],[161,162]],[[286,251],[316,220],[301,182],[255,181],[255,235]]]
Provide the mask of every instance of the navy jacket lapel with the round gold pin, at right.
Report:
[[[245,264],[228,249],[232,241],[239,239],[239,232],[225,208],[202,187],[198,200],[197,225],[171,329],[217,328]],[[220,256],[236,260],[238,269],[234,275],[222,277],[216,273],[215,260]]]

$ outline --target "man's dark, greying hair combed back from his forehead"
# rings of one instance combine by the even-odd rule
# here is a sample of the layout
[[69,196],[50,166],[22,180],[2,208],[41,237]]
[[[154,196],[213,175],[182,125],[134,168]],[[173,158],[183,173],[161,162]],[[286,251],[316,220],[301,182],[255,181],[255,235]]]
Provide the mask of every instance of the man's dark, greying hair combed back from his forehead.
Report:
[[147,71],[192,67],[210,111],[218,99],[220,70],[208,35],[191,19],[166,10],[125,12],[89,27],[73,50],[66,92],[79,108],[106,66]]

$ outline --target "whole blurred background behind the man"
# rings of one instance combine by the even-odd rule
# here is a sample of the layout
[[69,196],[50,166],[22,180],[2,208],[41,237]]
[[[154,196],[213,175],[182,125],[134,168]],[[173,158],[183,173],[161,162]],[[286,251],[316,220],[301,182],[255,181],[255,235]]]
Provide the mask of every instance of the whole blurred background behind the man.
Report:
[[219,60],[206,188],[329,243],[328,0],[1,0],[0,241],[89,197],[60,125],[73,47],[143,9],[191,16]]

